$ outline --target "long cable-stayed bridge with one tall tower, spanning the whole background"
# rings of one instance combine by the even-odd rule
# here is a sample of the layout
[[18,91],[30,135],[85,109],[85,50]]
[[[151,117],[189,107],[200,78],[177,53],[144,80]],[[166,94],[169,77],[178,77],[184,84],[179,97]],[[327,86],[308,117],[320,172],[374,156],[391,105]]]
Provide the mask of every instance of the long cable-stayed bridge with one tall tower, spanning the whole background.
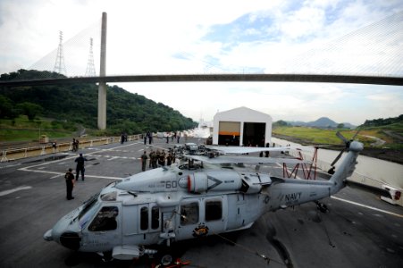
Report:
[[[100,25],[102,25],[100,27]],[[102,29],[102,30],[101,30]],[[270,61],[264,68],[254,66],[228,66],[212,60],[210,55],[197,57],[179,52],[178,64],[198,63],[199,72],[187,73],[123,73],[109,68],[106,73],[106,14],[75,37],[63,42],[28,69],[38,77],[21,77],[20,80],[0,80],[0,86],[18,87],[71,82],[181,82],[181,81],[283,81],[326,82],[380,85],[403,85],[403,12],[395,13],[382,21],[302,54]],[[130,52],[127,52],[130,53]],[[100,63],[97,71],[97,63]],[[135,63],[133,63],[135,64]],[[158,64],[155,62],[155,65]],[[183,69],[183,70],[186,70]],[[63,76],[56,75],[60,73]],[[102,94],[98,94],[102,96]],[[105,98],[105,97],[103,97]],[[98,110],[105,110],[98,100]],[[105,116],[99,114],[98,127],[105,129]]]

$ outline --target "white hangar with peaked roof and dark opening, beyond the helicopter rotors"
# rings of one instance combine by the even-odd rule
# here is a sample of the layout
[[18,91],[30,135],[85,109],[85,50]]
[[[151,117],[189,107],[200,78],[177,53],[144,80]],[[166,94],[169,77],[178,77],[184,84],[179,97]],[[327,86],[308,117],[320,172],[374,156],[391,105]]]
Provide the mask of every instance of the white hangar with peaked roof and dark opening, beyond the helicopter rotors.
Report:
[[214,115],[213,144],[264,147],[272,139],[272,117],[247,107]]

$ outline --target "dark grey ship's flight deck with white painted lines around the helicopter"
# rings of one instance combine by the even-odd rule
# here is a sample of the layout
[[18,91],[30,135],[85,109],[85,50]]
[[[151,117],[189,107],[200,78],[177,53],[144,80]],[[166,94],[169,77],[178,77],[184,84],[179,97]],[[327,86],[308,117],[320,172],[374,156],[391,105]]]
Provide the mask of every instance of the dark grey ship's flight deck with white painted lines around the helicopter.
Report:
[[[153,147],[173,145],[155,138]],[[64,214],[106,184],[140,172],[139,156],[148,147],[128,142],[80,150],[89,160],[86,179],[78,181],[70,201],[63,175],[75,169],[78,153],[0,163],[0,267],[149,267],[147,258],[104,263],[96,254],[75,253],[43,239]],[[264,171],[281,176],[282,166]],[[329,213],[307,203],[264,214],[248,230],[172,247],[189,267],[403,267],[403,207],[356,188],[343,188],[322,202]]]

